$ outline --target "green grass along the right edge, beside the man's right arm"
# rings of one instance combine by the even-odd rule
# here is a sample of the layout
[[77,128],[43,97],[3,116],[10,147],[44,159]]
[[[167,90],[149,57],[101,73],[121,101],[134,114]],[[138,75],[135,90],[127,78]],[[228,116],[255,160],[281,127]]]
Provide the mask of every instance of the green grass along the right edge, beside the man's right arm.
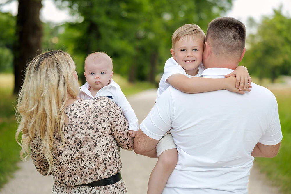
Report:
[[255,158],[261,172],[266,173],[284,194],[291,194],[291,89],[272,90],[278,102],[283,133],[281,148],[274,158]]

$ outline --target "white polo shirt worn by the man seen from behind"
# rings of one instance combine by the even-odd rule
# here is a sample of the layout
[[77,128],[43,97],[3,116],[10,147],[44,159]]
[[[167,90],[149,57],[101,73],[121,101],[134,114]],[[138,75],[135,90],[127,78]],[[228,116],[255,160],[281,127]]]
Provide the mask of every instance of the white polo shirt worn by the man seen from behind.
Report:
[[[209,68],[201,76],[223,78],[232,71]],[[253,148],[282,139],[276,98],[255,83],[243,95],[187,94],[170,86],[140,128],[156,140],[171,129],[177,145],[178,163],[163,194],[246,194]]]

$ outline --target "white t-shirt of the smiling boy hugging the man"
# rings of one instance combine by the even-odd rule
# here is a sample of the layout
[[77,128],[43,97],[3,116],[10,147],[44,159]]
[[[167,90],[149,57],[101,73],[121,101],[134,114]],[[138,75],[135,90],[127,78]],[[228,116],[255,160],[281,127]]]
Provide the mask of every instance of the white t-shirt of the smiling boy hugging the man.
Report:
[[159,97],[169,86],[171,86],[169,82],[167,81],[167,79],[171,75],[180,73],[180,74],[186,75],[187,77],[198,77],[201,75],[203,70],[204,70],[204,67],[201,63],[198,67],[198,73],[196,75],[194,76],[188,75],[186,74],[185,70],[177,63],[177,61],[173,59],[173,57],[169,58],[165,63],[164,73],[159,83],[157,97]]

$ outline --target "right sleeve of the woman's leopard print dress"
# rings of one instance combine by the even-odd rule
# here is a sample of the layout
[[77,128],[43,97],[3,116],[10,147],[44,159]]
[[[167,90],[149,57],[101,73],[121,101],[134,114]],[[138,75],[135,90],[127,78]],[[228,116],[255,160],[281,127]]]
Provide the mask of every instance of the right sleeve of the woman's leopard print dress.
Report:
[[112,103],[112,130],[111,134],[117,144],[125,150],[133,150],[133,140],[129,135],[128,122],[123,115],[121,108]]

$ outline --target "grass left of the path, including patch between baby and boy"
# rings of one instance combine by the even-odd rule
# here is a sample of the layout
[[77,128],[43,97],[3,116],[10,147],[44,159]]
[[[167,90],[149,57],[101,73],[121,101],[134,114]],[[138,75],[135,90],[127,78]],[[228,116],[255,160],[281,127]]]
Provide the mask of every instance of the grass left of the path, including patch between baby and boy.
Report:
[[[15,133],[17,130],[17,121],[15,119],[16,96],[13,92],[12,74],[0,73],[0,190],[13,176],[13,172],[18,169],[17,162],[20,161],[20,146],[16,143]],[[114,81],[118,83],[123,93],[128,96],[154,88],[153,84],[146,82],[137,82],[129,84],[124,78],[114,74]]]

